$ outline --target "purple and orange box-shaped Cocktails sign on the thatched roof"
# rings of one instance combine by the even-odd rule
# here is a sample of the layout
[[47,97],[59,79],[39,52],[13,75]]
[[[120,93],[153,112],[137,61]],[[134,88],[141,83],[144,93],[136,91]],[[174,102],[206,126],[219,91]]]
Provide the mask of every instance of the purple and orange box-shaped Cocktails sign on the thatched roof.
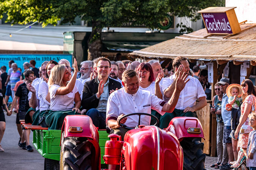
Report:
[[235,7],[209,7],[198,11],[202,14],[209,34],[236,34],[240,32]]

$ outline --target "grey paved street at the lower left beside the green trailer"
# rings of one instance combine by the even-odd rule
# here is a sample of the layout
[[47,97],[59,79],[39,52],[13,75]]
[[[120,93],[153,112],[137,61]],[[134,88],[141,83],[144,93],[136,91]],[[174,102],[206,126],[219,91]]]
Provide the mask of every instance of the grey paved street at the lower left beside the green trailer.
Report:
[[[6,116],[6,130],[1,145],[5,149],[0,152],[0,170],[43,170],[44,158],[35,150],[28,152],[20,149],[17,145],[19,134],[17,132],[15,120],[16,114]],[[30,134],[30,144],[32,144],[32,133]]]

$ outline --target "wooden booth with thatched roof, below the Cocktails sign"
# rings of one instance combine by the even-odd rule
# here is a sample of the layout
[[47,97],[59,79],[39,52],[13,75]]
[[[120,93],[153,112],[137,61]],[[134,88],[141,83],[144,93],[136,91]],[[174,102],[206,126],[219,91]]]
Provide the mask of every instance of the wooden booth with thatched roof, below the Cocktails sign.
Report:
[[[256,23],[239,23],[241,31],[236,34],[208,34],[206,28],[183,34],[129,53],[129,57],[144,60],[158,59],[167,63],[177,56],[188,57],[190,62],[201,60],[208,63],[208,69],[213,71],[208,80],[212,85],[212,97],[215,95],[214,84],[222,78],[223,70],[231,83],[239,83],[240,79],[252,78],[255,83],[256,76]],[[166,63],[164,62],[164,63]],[[254,79],[253,79],[254,77]],[[211,98],[212,98],[211,97]],[[204,153],[215,156],[216,150],[216,116],[210,114],[211,100],[206,107],[197,111],[204,131]]]

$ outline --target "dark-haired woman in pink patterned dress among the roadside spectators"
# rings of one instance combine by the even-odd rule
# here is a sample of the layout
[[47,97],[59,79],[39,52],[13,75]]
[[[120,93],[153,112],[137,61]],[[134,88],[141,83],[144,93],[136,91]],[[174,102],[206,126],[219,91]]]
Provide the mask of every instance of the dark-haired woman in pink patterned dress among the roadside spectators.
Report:
[[239,135],[238,147],[241,147],[243,153],[247,156],[246,149],[248,145],[248,137],[249,133],[253,130],[249,125],[248,115],[251,111],[255,110],[256,97],[253,82],[251,80],[243,80],[241,87],[243,92],[243,103],[241,105],[241,116],[235,131],[235,137],[237,138]]

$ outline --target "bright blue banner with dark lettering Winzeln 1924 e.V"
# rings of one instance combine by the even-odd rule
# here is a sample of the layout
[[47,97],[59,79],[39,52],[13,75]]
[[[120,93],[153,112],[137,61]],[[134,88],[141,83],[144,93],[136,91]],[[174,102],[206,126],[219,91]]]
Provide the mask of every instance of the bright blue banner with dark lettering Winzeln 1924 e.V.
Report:
[[14,62],[17,63],[18,67],[20,67],[21,70],[24,71],[23,63],[29,62],[30,60],[35,60],[36,68],[39,68],[44,61],[55,60],[56,62],[59,62],[60,59],[69,60],[72,67],[71,54],[0,54],[0,67],[5,65],[7,68],[6,72],[8,72],[8,62],[9,60],[14,60]]

